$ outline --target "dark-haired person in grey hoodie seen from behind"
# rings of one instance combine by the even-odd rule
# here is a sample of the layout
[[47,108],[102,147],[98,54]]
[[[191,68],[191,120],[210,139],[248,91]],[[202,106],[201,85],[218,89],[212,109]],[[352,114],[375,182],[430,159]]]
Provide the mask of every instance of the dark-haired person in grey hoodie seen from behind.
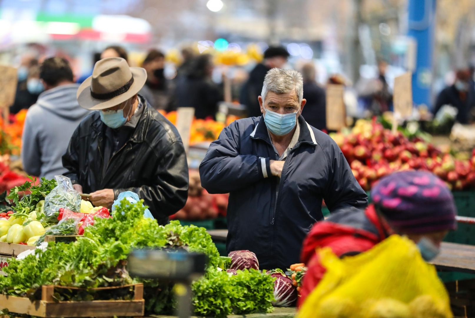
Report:
[[61,157],[77,125],[90,111],[77,103],[79,84],[74,83],[65,58],[47,58],[40,66],[39,77],[46,90],[28,109],[21,160],[28,174],[52,179],[66,172]]

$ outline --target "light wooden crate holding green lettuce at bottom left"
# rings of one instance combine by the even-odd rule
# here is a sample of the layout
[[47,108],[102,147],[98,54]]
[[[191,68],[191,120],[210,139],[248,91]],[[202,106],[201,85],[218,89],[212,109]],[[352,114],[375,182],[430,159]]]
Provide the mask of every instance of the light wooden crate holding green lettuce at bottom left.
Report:
[[42,286],[41,300],[30,300],[26,297],[0,295],[0,304],[2,308],[6,308],[12,313],[44,318],[143,316],[145,308],[143,284],[102,287],[92,290],[119,289],[131,286],[134,288],[132,300],[55,301],[53,299],[55,288],[78,288]]

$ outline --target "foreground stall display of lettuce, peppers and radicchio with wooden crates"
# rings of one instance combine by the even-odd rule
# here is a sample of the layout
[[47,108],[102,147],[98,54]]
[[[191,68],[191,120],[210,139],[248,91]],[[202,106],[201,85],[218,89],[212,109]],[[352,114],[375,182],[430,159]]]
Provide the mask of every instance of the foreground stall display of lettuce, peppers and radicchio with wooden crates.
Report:
[[[60,179],[25,183],[11,190],[12,205],[4,202],[11,213],[0,218],[1,229],[6,231],[0,251],[11,252],[13,258],[0,278],[3,314],[70,317],[75,311],[75,317],[104,317],[172,313],[172,284],[129,275],[125,260],[137,248],[207,255],[204,277],[191,286],[197,315],[265,314],[274,311],[273,305],[295,303],[299,282],[290,278],[295,269],[288,270],[289,277],[280,271],[260,271],[256,256],[249,251],[221,257],[204,228],[177,221],[159,226],[144,217],[146,208],[141,201],[114,203],[111,217],[106,208],[93,208],[82,201],[63,181],[66,183]],[[67,242],[47,242],[51,233],[75,236]],[[284,279],[286,284],[275,289],[275,279]],[[292,299],[279,302],[289,292]],[[77,313],[83,307],[87,309]],[[279,315],[284,316],[271,317],[289,317],[289,312]]]

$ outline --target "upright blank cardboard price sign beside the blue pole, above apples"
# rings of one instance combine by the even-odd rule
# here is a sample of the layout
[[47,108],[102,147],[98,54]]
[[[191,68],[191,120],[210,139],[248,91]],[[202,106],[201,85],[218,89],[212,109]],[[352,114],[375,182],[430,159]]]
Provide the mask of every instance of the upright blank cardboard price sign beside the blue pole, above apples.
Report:
[[412,115],[412,74],[410,72],[394,78],[394,112],[402,118]]

